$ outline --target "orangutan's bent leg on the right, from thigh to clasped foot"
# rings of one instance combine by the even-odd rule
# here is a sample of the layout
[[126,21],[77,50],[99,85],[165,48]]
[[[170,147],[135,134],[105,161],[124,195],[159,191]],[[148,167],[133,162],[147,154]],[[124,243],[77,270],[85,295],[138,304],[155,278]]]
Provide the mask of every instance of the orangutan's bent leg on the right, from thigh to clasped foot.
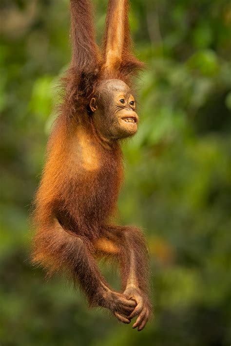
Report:
[[119,262],[124,294],[137,304],[128,319],[138,315],[133,328],[142,330],[151,313],[148,251],[142,233],[135,227],[107,226],[95,242],[95,248],[99,255]]

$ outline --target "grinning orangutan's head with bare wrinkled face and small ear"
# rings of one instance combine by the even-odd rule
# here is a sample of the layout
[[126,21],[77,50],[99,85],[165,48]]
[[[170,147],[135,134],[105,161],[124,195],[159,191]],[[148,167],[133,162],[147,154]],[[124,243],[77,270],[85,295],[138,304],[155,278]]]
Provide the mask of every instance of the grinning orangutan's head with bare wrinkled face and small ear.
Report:
[[101,137],[116,140],[136,133],[138,116],[135,112],[135,99],[123,81],[102,81],[89,106],[96,131]]

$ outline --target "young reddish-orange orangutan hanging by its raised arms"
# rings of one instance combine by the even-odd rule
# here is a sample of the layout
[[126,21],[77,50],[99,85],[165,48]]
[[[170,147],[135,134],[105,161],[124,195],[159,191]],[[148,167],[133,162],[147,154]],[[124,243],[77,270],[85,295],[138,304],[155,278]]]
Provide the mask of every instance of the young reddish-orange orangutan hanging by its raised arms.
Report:
[[[92,18],[89,0],[71,0],[72,60],[35,199],[33,261],[68,274],[90,306],[119,321],[138,315],[133,328],[142,330],[151,312],[146,244],[139,229],[110,221],[123,177],[119,141],[137,130],[129,85],[142,63],[131,53],[128,0],[109,0],[102,55]],[[118,262],[121,292],[99,272],[102,256]]]

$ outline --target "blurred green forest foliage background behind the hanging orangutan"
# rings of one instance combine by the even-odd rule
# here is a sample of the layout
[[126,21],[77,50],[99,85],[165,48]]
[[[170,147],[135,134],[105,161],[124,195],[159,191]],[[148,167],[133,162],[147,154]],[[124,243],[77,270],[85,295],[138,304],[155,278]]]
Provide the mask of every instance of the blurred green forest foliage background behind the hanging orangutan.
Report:
[[[119,219],[146,233],[155,317],[139,333],[30,264],[31,201],[70,60],[69,1],[0,0],[1,346],[231,344],[231,2],[131,2],[147,70]],[[99,40],[106,1],[94,4]]]

